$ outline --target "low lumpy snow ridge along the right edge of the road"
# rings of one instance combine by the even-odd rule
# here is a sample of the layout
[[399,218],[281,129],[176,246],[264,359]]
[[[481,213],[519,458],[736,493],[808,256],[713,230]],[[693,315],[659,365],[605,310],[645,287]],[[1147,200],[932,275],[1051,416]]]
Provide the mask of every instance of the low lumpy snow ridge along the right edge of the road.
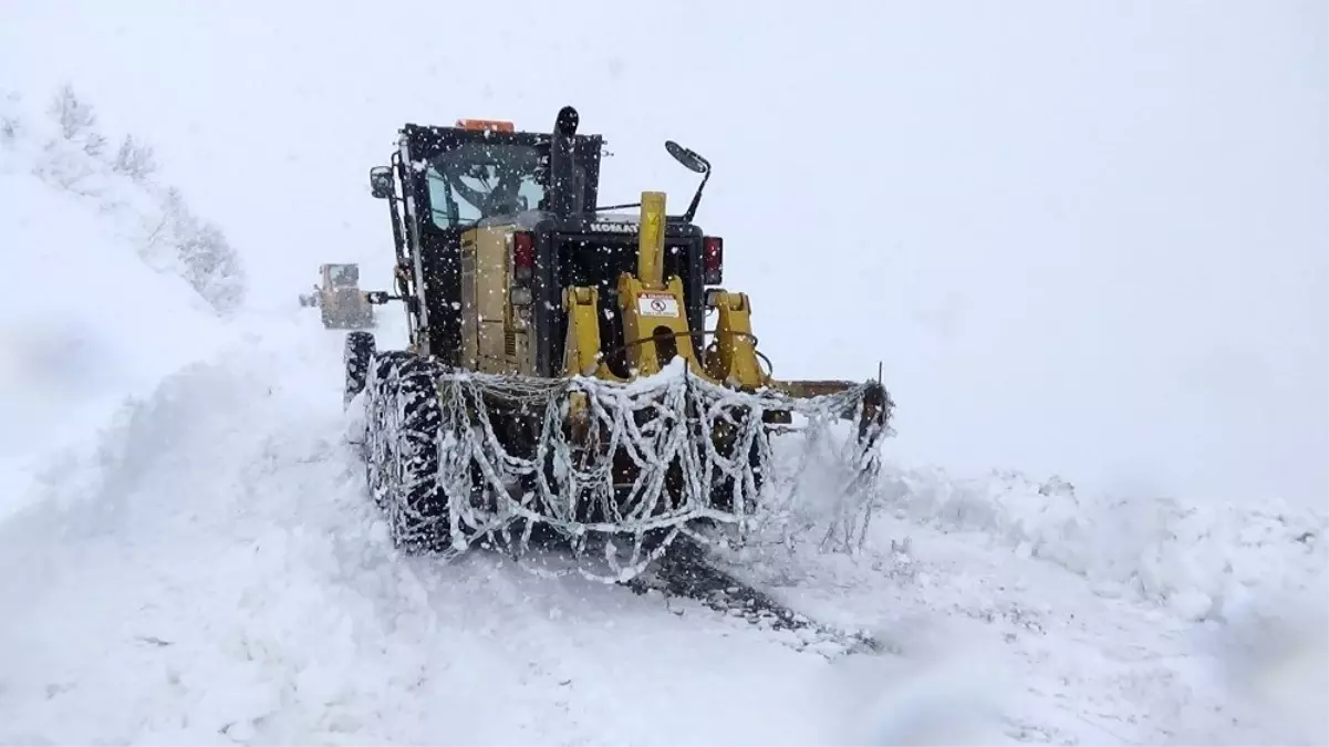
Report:
[[985,533],[1084,576],[1099,594],[1134,591],[1192,619],[1281,607],[1316,589],[1329,598],[1329,516],[1304,506],[1080,496],[1058,477],[956,479],[944,469],[896,471],[884,505],[900,518]]

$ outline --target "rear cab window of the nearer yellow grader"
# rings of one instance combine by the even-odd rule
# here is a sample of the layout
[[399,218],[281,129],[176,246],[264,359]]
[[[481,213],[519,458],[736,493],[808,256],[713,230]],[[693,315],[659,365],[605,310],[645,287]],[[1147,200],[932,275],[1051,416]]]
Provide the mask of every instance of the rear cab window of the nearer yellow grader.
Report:
[[530,145],[468,142],[431,160],[425,174],[441,229],[537,210],[545,199],[545,165]]

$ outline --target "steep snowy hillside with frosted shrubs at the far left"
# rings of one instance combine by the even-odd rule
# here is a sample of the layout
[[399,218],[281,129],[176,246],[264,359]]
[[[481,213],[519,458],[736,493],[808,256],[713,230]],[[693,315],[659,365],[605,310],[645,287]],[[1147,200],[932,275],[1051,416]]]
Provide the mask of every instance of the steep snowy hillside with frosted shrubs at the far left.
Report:
[[94,125],[68,90],[47,112],[0,92],[0,516],[41,455],[213,350],[243,298],[219,231]]

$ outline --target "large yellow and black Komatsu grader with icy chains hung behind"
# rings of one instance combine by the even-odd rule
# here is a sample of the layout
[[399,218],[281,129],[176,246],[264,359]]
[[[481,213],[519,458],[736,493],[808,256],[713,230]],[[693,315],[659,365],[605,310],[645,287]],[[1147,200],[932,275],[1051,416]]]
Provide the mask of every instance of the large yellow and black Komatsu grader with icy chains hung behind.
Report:
[[702,175],[682,215],[658,191],[598,207],[603,140],[578,120],[408,124],[369,171],[396,287],[368,299],[404,304],[408,344],[348,334],[346,403],[363,408],[369,489],[401,548],[552,529],[626,580],[680,533],[760,517],[779,435],[825,444],[839,424],[852,480],[877,464],[880,374],[772,377],[751,299],[720,287],[723,239],[694,223],[710,163],[666,142]]

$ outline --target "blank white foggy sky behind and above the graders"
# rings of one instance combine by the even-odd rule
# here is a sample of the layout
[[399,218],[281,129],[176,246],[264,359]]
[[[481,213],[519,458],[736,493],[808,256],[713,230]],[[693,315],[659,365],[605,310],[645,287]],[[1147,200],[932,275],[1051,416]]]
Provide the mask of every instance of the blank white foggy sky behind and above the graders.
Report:
[[710,158],[763,351],[880,362],[892,457],[1329,505],[1324,3],[0,8],[0,86],[150,140],[263,308],[322,262],[387,280],[365,177],[403,122],[573,104],[609,201],[686,202],[664,138]]

